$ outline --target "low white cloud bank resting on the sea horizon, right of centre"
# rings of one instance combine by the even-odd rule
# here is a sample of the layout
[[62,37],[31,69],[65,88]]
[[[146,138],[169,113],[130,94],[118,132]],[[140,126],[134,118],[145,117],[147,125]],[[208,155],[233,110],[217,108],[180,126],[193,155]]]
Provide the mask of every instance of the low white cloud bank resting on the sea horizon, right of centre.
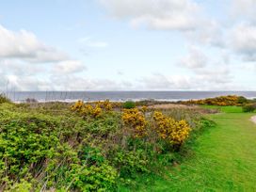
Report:
[[200,69],[191,75],[154,73],[140,79],[142,89],[152,90],[232,90],[238,88],[226,68]]

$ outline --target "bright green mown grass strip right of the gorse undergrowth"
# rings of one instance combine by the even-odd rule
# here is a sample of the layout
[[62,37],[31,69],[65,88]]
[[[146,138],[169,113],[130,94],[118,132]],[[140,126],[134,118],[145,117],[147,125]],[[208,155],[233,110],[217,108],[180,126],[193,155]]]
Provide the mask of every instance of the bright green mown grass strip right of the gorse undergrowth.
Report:
[[[181,166],[167,170],[145,191],[256,191],[256,124],[253,114],[224,108],[211,115],[216,127],[205,131],[195,152]],[[255,115],[255,114],[254,114]]]

